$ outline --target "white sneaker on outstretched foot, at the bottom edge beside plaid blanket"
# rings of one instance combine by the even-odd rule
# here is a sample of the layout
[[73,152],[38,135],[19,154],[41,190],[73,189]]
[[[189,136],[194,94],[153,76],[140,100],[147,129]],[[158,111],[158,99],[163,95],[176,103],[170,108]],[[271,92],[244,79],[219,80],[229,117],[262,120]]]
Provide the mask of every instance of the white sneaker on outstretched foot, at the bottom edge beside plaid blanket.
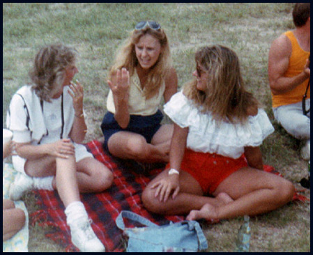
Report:
[[81,252],[105,252],[105,247],[91,228],[91,219],[79,218],[70,224],[72,243]]

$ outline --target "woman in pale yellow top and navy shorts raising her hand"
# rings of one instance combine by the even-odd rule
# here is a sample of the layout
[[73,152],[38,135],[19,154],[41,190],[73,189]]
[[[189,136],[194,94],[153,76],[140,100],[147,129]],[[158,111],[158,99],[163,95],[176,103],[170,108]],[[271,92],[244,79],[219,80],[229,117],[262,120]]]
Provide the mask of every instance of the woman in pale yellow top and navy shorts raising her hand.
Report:
[[139,22],[109,71],[107,114],[101,129],[103,147],[137,162],[168,162],[173,125],[160,125],[162,98],[177,91],[169,42],[160,24]]

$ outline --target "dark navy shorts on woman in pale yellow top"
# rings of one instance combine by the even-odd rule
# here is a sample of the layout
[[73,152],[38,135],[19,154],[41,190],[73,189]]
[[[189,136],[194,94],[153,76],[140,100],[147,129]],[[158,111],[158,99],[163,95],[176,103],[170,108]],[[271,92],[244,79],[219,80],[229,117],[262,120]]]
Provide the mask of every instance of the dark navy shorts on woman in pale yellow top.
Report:
[[112,136],[112,134],[120,131],[141,134],[146,139],[146,142],[150,144],[153,135],[158,132],[159,128],[161,127],[160,123],[162,118],[163,114],[160,110],[158,110],[156,114],[150,116],[130,115],[130,123],[125,129],[123,129],[119,126],[119,123],[116,122],[114,114],[108,111],[101,123],[101,130],[105,136],[103,148],[109,151],[107,146],[109,138]]

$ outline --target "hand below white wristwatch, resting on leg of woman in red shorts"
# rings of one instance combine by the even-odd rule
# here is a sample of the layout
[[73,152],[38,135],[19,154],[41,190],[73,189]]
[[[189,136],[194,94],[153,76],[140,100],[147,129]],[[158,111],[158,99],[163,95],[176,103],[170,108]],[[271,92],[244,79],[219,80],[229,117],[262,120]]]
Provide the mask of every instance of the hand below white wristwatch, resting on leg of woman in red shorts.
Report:
[[159,196],[159,200],[166,202],[169,195],[173,192],[172,199],[175,199],[179,192],[179,175],[172,174],[162,178],[156,182],[151,189],[155,190],[155,197]]

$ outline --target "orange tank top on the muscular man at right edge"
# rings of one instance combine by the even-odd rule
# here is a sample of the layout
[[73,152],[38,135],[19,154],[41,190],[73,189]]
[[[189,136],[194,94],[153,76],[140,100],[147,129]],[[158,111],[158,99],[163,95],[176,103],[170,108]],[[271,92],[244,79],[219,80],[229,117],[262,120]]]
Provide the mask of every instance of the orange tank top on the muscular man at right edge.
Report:
[[[291,56],[289,58],[289,67],[287,72],[285,72],[284,77],[293,77],[299,75],[303,72],[303,67],[307,59],[310,56],[310,52],[305,52],[300,45],[298,40],[293,35],[292,31],[287,31],[284,33],[287,38],[291,41]],[[305,94],[305,89],[307,88],[307,83],[309,79],[306,79],[302,84],[299,84],[296,88],[293,88],[292,91],[280,95],[273,95],[272,93],[272,102],[273,107],[279,107],[281,105],[290,105],[296,102],[300,102]],[[310,88],[307,91],[307,98],[310,98]]]

